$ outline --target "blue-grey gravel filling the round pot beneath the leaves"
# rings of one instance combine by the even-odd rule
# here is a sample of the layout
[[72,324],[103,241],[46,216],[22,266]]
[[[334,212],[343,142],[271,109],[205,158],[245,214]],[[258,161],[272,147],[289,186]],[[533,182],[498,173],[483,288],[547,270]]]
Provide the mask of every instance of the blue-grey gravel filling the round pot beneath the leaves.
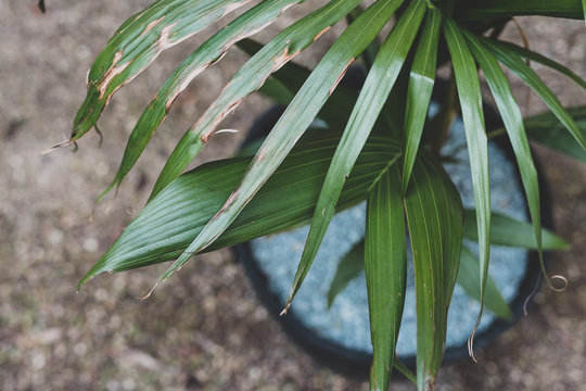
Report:
[[[464,140],[463,124],[458,119],[453,125],[450,139],[443,152],[458,161],[458,163],[445,164],[445,168],[460,191],[464,207],[473,207],[474,197]],[[509,161],[495,143],[489,144],[488,153],[493,211],[520,220],[528,220],[514,163]],[[364,272],[337,295],[331,308],[328,308],[327,303],[328,290],[339,260],[364,238],[365,216],[366,203],[335,215],[314,265],[293,301],[292,311],[317,336],[353,351],[371,353]],[[252,254],[257,266],[268,277],[268,289],[282,303],[289,295],[308,229],[308,227],[303,227],[251,242]],[[466,244],[476,251],[475,243],[466,241]],[[524,250],[493,245],[489,273],[507,301],[510,302],[515,297],[526,266],[527,253]],[[415,279],[410,253],[408,253],[407,273],[405,311],[397,342],[397,353],[402,356],[412,356],[417,350]],[[457,285],[448,315],[446,341],[448,348],[466,343],[479,310],[480,304],[469,298]],[[479,332],[488,328],[495,319],[496,317],[486,311]]]

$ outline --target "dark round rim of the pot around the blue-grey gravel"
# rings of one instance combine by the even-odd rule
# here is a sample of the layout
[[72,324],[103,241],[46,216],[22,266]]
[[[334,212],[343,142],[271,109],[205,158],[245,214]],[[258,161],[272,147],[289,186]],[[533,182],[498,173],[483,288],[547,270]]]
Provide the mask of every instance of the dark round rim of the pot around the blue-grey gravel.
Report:
[[[360,77],[360,71],[352,71],[353,70],[348,72],[352,78]],[[345,80],[343,80],[343,83],[344,81]],[[354,87],[354,85],[356,85],[356,83],[354,83],[352,87]],[[434,90],[434,93],[441,91],[444,88],[445,81],[437,81],[437,87],[436,90]],[[282,108],[276,105],[269,111],[267,111],[264,115],[262,115],[254,123],[252,130],[249,134],[249,137],[244,140],[244,144],[258,137],[259,134],[263,134],[266,127],[270,126],[269,124],[276,123],[280,117],[282,111]],[[487,129],[496,129],[502,126],[498,113],[492,106],[484,105],[484,114],[486,118]],[[515,162],[514,153],[509,142],[509,139],[506,137],[500,137],[498,139],[495,139],[495,141],[505,152],[507,159],[509,159],[509,161]],[[539,182],[539,195],[542,201],[542,224],[543,227],[553,230],[553,217],[549,186],[542,173],[539,161],[537,160],[535,154],[534,161],[537,168],[537,176]],[[517,166],[517,164],[513,165],[515,167],[517,180],[521,185],[522,181],[519,167]],[[327,367],[331,368],[332,370],[356,378],[368,378],[370,370],[370,362],[372,358],[371,354],[367,354],[362,351],[341,348],[340,345],[333,343],[330,340],[316,336],[303,325],[303,323],[294,314],[294,312],[289,313],[286,316],[279,316],[282,310],[282,304],[280,303],[279,298],[277,298],[276,294],[271,293],[266,288],[267,277],[253,262],[250,243],[242,243],[233,247],[232,249],[237,258],[242,262],[246,276],[250,278],[256,295],[271,314],[271,316],[279,323],[280,327],[289,336],[289,338],[291,338],[295,343],[302,346],[314,358],[316,358],[318,362],[322,363]],[[544,260],[547,266],[549,264],[549,254],[547,252],[544,253]],[[539,260],[536,251],[527,252],[527,261],[528,267],[520,285],[518,294],[510,302],[511,311],[513,312],[513,319],[505,320],[496,318],[488,326],[487,329],[477,333],[476,338],[474,339],[475,352],[484,349],[491,341],[498,338],[500,335],[511,328],[523,316],[525,301],[530,297],[531,292],[534,290],[540,274]],[[532,302],[533,298],[530,299],[527,307],[532,304]],[[416,369],[415,356],[400,358],[411,370]],[[443,365],[457,364],[462,360],[470,360],[468,357],[468,346],[466,345],[466,343],[460,346],[451,346],[446,349],[446,351],[444,352]],[[404,379],[403,376],[400,376],[399,374],[394,374],[394,376],[395,379]]]

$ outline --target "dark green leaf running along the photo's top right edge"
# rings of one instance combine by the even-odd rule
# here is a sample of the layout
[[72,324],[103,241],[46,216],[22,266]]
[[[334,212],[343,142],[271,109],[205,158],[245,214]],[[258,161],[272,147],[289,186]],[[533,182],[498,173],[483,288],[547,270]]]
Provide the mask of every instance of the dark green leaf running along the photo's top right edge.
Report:
[[521,15],[584,17],[581,0],[467,0],[462,5],[457,18],[466,22]]

